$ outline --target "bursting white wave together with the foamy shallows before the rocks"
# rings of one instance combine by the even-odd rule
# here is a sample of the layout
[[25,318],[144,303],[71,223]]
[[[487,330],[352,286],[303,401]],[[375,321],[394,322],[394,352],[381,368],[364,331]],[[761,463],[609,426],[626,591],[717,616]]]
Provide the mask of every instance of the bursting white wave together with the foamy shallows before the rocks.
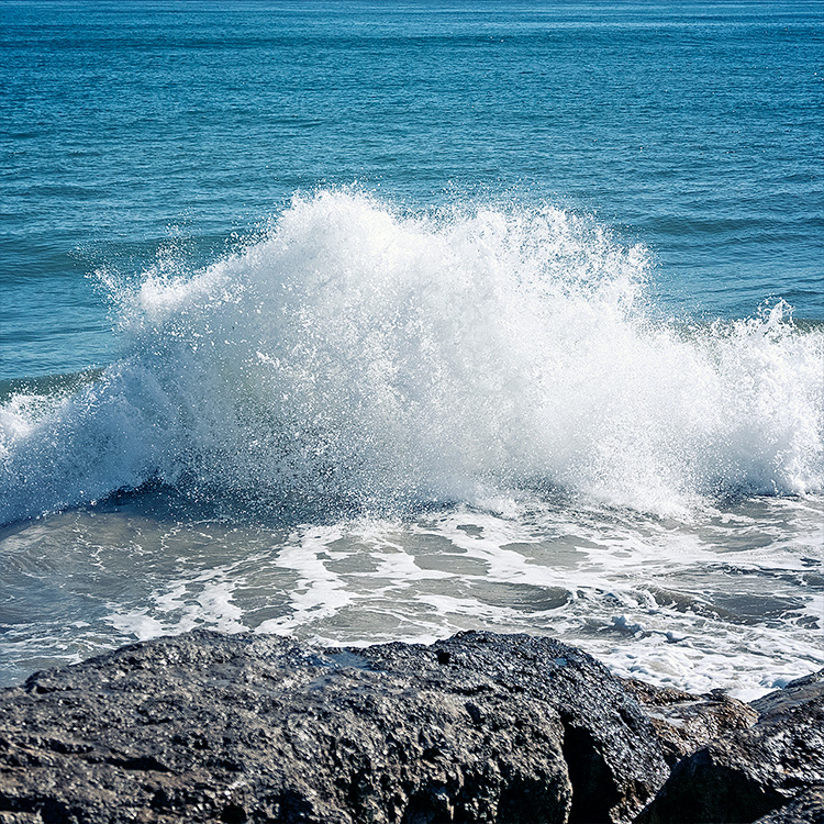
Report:
[[0,675],[201,625],[546,632],[742,697],[824,666],[824,329],[673,316],[654,269],[582,212],[357,189],[101,269],[119,356],[0,408]]

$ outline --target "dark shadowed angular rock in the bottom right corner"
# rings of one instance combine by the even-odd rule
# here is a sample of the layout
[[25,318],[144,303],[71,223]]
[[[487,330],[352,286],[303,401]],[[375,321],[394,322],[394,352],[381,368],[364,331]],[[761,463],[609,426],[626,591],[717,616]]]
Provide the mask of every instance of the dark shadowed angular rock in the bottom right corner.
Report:
[[679,761],[638,824],[753,822],[824,783],[824,670],[753,702],[758,721]]

